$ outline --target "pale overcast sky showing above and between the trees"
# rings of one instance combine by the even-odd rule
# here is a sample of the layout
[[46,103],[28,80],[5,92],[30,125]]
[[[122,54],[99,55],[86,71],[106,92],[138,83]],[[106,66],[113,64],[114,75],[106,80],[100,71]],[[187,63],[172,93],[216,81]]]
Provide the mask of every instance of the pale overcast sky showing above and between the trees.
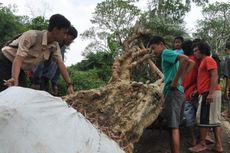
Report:
[[[139,0],[137,6],[144,10],[146,9],[146,3],[148,0]],[[214,2],[215,0],[210,0]],[[230,0],[218,0],[228,1]],[[16,4],[18,15],[28,15],[30,17],[36,17],[43,15],[49,18],[52,14],[60,13],[68,18],[72,25],[78,30],[79,33],[83,33],[90,26],[90,19],[92,18],[92,12],[94,11],[97,3],[102,0],[0,0],[0,3],[4,5]],[[201,8],[192,6],[192,10],[186,15],[186,29],[187,31],[194,31],[195,23],[197,19],[201,19]],[[83,57],[82,51],[89,42],[82,41],[78,37],[74,43],[70,45],[70,50],[66,53],[65,64],[70,66],[80,62]]]

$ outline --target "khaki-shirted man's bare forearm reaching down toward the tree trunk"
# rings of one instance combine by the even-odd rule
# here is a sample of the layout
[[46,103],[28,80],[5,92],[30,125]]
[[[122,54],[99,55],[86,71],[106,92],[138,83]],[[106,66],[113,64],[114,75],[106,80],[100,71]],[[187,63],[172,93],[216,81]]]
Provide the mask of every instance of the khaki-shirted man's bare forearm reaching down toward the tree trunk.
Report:
[[67,84],[67,88],[68,88],[67,93],[68,94],[74,93],[73,84],[71,82],[71,79],[69,77],[69,73],[67,71],[65,64],[63,63],[62,60],[58,60],[58,59],[56,59],[55,62],[57,63],[60,73]]

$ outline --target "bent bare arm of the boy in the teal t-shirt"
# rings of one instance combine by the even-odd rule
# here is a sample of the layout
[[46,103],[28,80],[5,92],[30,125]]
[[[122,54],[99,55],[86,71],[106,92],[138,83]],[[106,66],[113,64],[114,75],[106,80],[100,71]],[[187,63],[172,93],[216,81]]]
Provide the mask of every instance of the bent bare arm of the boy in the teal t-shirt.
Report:
[[187,56],[180,54],[177,56],[177,60],[179,60],[180,65],[178,71],[172,80],[171,87],[176,87],[178,84],[178,80],[187,74],[187,72],[194,66],[194,61],[190,60]]

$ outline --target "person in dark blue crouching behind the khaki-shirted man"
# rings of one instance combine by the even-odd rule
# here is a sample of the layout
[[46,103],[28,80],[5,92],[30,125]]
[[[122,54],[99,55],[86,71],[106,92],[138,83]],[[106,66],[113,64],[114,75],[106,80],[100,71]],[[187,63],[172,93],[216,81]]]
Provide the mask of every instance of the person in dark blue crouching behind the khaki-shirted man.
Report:
[[[78,35],[77,30],[73,26],[70,26],[64,41],[62,43],[59,43],[61,47],[61,55],[63,60],[64,60],[66,46],[69,46],[74,41],[74,39],[77,38],[77,35]],[[39,64],[33,70],[31,87],[34,89],[49,91],[49,81],[51,81],[52,94],[57,96],[58,95],[57,81],[59,75],[60,72],[56,63],[52,59],[49,59],[44,63]]]

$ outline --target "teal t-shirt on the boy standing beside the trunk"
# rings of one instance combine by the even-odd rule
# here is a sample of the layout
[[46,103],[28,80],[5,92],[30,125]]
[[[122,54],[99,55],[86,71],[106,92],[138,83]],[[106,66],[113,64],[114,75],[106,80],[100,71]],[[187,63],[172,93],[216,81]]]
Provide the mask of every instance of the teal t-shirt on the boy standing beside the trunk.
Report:
[[[175,77],[177,70],[179,68],[179,61],[177,57],[179,54],[175,51],[165,49],[161,54],[162,58],[162,71],[164,74],[164,89],[163,93],[166,95],[170,89],[170,84]],[[181,79],[178,80],[177,89],[181,92],[184,92],[184,88],[181,85]]]

